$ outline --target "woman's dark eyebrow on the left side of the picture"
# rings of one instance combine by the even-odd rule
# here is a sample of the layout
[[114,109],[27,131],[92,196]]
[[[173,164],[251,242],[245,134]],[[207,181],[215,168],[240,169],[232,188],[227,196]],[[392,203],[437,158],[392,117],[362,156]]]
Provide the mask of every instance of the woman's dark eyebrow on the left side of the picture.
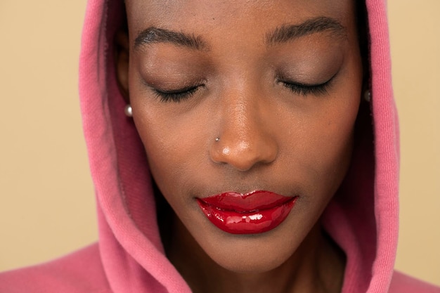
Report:
[[134,48],[158,43],[169,43],[195,50],[207,48],[207,44],[202,40],[202,37],[195,37],[193,34],[185,34],[183,32],[173,32],[159,27],[148,27],[140,32],[134,40]]

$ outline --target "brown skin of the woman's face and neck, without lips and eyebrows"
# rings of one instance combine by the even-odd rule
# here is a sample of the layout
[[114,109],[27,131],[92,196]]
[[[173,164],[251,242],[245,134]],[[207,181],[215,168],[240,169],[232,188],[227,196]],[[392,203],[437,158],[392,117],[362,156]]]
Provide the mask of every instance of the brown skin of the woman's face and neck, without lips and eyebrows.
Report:
[[[176,215],[167,255],[194,292],[340,292],[344,255],[319,219],[349,167],[361,97],[353,2],[126,1],[117,78]],[[346,37],[265,43],[276,27],[318,16],[340,22]],[[135,48],[152,26],[200,37],[205,47]],[[329,79],[305,95],[284,83]],[[157,96],[188,86],[196,90],[179,103]],[[219,230],[195,200],[251,190],[299,198],[280,226],[257,235]]]

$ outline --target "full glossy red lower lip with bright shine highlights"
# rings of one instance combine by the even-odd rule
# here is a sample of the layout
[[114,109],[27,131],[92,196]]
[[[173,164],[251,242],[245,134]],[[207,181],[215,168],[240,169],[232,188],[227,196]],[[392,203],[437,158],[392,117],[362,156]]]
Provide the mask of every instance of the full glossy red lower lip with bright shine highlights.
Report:
[[259,234],[276,228],[295,206],[297,197],[290,197],[281,204],[245,211],[242,208],[222,209],[198,199],[200,209],[217,228],[231,234]]

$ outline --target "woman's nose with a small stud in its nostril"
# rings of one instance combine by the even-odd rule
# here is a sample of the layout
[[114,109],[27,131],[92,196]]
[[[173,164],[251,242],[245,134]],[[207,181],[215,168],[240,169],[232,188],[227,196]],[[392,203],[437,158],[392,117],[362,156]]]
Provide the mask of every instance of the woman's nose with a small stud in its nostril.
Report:
[[247,171],[257,164],[270,164],[276,159],[278,145],[271,123],[266,123],[272,117],[262,109],[257,100],[240,98],[224,105],[219,111],[219,135],[212,138],[209,149],[213,162]]

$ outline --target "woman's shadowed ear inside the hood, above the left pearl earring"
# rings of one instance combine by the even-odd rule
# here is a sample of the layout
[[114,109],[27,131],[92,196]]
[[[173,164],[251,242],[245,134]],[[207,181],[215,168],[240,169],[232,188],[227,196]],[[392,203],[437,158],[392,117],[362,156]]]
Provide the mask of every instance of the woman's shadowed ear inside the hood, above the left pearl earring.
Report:
[[126,30],[117,31],[114,45],[117,86],[125,102],[129,103],[129,36]]

